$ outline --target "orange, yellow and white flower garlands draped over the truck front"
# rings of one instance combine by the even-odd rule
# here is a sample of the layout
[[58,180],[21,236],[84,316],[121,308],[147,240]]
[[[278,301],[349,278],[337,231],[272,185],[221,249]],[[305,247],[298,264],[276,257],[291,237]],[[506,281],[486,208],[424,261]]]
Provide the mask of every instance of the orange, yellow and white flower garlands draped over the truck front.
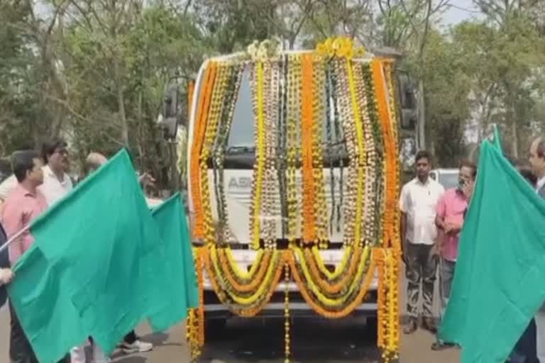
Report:
[[[365,50],[346,38],[327,40],[316,52],[305,54],[278,55],[274,47],[265,45],[254,48],[248,53],[251,60],[210,62],[199,91],[189,164],[192,232],[207,246],[195,254],[201,294],[199,308],[189,311],[187,320],[192,355],[199,354],[204,342],[203,272],[221,303],[241,316],[257,315],[284,273],[285,359],[289,362],[290,271],[316,313],[341,318],[364,301],[378,267],[378,345],[386,361],[394,359],[399,347],[396,207],[400,178],[391,62],[375,58],[368,63],[358,58]],[[257,250],[248,271],[235,261],[223,227],[229,224],[224,152],[246,65],[251,69],[255,116],[249,231],[251,247]],[[324,117],[326,143],[322,140]],[[336,143],[342,147],[334,147],[333,126]],[[210,157],[213,185],[209,185]],[[324,160],[329,160],[331,203],[325,196]],[[343,184],[345,166],[348,176]],[[341,175],[339,203],[335,201],[335,168]],[[210,190],[216,195],[221,218],[217,231]],[[341,263],[330,271],[319,249],[329,245],[328,230],[333,233],[335,213],[338,226],[343,218],[344,250]],[[277,250],[277,240],[284,236],[288,248]],[[383,248],[375,250],[375,245]]]

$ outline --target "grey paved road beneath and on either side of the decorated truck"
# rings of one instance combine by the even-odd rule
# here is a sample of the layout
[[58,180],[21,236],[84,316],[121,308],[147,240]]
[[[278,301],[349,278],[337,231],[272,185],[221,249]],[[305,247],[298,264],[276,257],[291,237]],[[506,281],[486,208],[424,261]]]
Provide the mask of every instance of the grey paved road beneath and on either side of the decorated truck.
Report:
[[[402,287],[402,291],[403,291]],[[404,294],[400,294],[404,296]],[[437,301],[437,299],[435,299]],[[404,306],[404,303],[402,303]],[[436,304],[435,310],[438,310]],[[231,320],[224,333],[207,342],[202,363],[282,363],[284,362],[283,320]],[[189,362],[185,345],[185,328],[179,325],[169,334],[150,335],[146,326],[138,328],[143,339],[153,342],[155,349],[146,354],[123,356],[114,354],[114,362],[185,363]],[[375,333],[365,329],[365,320],[326,321],[319,318],[295,320],[292,351],[294,362],[302,363],[370,363],[378,362]],[[9,313],[0,310],[0,363],[8,359]],[[402,336],[402,363],[456,363],[458,350],[431,352],[434,337],[419,330]]]

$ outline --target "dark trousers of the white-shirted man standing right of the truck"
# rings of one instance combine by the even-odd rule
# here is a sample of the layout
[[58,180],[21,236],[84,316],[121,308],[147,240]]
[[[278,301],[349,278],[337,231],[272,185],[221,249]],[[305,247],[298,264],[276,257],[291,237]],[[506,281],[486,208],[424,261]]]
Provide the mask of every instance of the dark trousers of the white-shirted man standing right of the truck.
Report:
[[405,277],[407,277],[407,312],[416,319],[419,311],[419,295],[422,288],[422,315],[431,318],[434,303],[434,283],[439,257],[432,245],[405,244]]

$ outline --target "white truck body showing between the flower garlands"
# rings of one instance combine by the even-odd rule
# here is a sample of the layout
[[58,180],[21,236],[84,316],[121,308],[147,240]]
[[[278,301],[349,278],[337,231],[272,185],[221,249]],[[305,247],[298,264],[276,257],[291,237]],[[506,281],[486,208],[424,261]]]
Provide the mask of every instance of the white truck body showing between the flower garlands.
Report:
[[[206,65],[206,63],[205,63]],[[192,145],[195,139],[195,128],[196,128],[196,113],[197,113],[197,100],[199,99],[199,94],[202,92],[203,87],[203,65],[199,76],[197,77],[197,82],[195,85],[194,98],[192,103],[192,111],[187,123],[188,131],[188,143],[187,143],[187,173],[191,173],[191,150]],[[402,111],[400,115],[402,117],[407,115],[414,115],[416,112],[410,108],[404,108],[404,102],[407,104],[414,105],[414,99],[411,99],[414,96],[412,90],[408,83],[397,80],[397,86],[400,86],[400,94],[402,94],[401,107]],[[169,89],[170,100],[172,97],[177,98],[177,95],[172,96],[172,87]],[[251,244],[251,233],[248,225],[248,220],[250,219],[251,213],[251,194],[252,194],[252,184],[253,184],[253,167],[255,164],[255,123],[254,114],[253,114],[253,100],[251,95],[251,82],[249,76],[249,70],[245,69],[243,78],[241,81],[241,86],[236,95],[237,101],[235,104],[233,112],[233,121],[231,125],[231,130],[229,133],[229,138],[227,140],[225,157],[223,160],[223,184],[224,184],[224,200],[226,204],[226,213],[229,216],[229,240],[225,240],[231,245],[233,250],[233,257],[238,264],[238,267],[243,271],[248,271],[251,269],[257,251],[253,250],[250,247]],[[172,112],[169,113],[169,109],[172,111],[172,101],[167,101],[167,106],[165,107],[165,119],[171,119],[175,117]],[[174,109],[177,107],[174,106]],[[180,112],[176,110],[176,112]],[[413,117],[413,116],[411,116]],[[179,116],[178,116],[179,118]],[[416,125],[414,122],[401,122],[403,125],[409,125],[408,128],[415,128]],[[167,127],[170,127],[167,125]],[[407,126],[406,126],[407,127]],[[342,146],[342,145],[338,145]],[[324,152],[324,160],[328,160],[328,157],[334,157],[332,155],[326,155]],[[334,160],[334,164],[339,164],[339,160],[346,158],[346,151],[336,152],[336,157],[338,160]],[[211,164],[211,162],[210,162]],[[324,162],[326,164],[326,162]],[[333,200],[338,200],[341,198],[339,189],[335,188],[333,194],[329,193],[330,186],[333,183],[334,186],[338,185],[341,181],[341,169],[338,167],[329,167],[324,165],[323,170],[324,175],[324,185],[326,186],[326,203],[327,207],[331,209]],[[214,170],[209,166],[208,179],[210,181],[214,180]],[[346,175],[344,177],[344,183],[346,183]],[[300,184],[301,175],[297,174],[297,181]],[[190,183],[188,182],[190,187]],[[211,210],[213,212],[213,219],[215,223],[218,223],[218,215],[216,213],[216,188],[214,184],[210,182],[209,192],[211,200]],[[190,226],[194,222],[194,206],[192,199],[190,197],[191,190],[189,190],[189,196],[187,198],[188,203],[188,216],[190,220]],[[337,204],[338,205],[338,204]],[[280,216],[277,216],[277,245],[286,246],[287,240],[285,237],[285,231],[282,230],[282,225],[285,220],[282,220]],[[321,250],[321,258],[326,264],[326,268],[330,271],[333,271],[338,264],[341,263],[343,257],[343,216],[340,216],[335,222],[334,228],[328,228],[329,230],[329,248],[326,250]],[[191,227],[190,227],[191,228]],[[297,226],[300,229],[300,225]],[[194,240],[194,245],[202,245],[202,240]],[[278,247],[282,248],[282,247]],[[304,301],[304,298],[299,294],[298,286],[295,282],[291,281],[288,286],[285,286],[284,282],[280,282],[276,288],[275,294],[273,294],[268,305],[263,308],[259,316],[262,317],[282,317],[284,316],[284,294],[285,289],[290,291],[290,315],[291,316],[316,316],[312,308]],[[376,327],[376,314],[377,314],[377,294],[376,290],[378,287],[378,279],[373,279],[373,282],[368,290],[368,294],[365,298],[365,301],[356,308],[355,314],[365,315],[370,318],[370,326],[372,329]],[[216,296],[216,293],[211,285],[211,281],[207,278],[207,274],[204,274],[204,311],[207,318],[207,324],[214,324],[218,327],[224,325],[226,319],[232,316],[229,309],[221,303],[219,298]],[[210,330],[209,330],[210,331]]]

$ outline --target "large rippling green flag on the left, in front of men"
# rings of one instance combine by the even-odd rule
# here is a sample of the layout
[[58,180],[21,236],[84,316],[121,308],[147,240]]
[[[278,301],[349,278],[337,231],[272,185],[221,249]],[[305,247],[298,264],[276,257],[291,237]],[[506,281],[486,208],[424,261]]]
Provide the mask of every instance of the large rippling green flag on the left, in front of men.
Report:
[[31,225],[11,303],[40,362],[91,335],[109,353],[145,318],[170,307],[158,227],[126,150]]

